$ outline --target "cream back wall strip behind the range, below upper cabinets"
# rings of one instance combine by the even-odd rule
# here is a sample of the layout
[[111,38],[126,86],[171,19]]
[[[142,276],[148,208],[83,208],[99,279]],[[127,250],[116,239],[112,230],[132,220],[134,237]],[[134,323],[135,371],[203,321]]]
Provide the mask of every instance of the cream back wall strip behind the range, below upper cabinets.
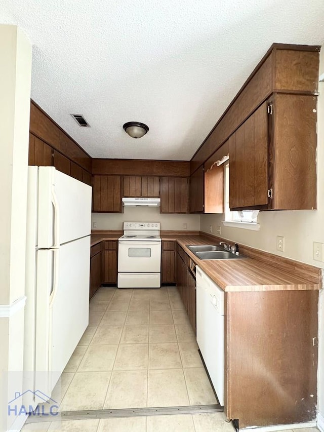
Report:
[[[125,207],[124,213],[92,213],[92,222],[97,228],[92,229],[123,229],[123,222],[160,222],[161,230],[199,231],[200,215],[163,214],[159,207]],[[93,226],[93,225],[92,225]]]

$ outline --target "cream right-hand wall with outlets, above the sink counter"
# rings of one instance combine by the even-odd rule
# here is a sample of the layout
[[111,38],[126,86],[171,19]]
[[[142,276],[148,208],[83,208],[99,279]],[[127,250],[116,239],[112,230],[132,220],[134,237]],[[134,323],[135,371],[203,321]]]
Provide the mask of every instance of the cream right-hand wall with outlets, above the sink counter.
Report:
[[[320,53],[320,74],[324,73],[324,49]],[[221,237],[273,254],[303,261],[317,267],[323,262],[313,260],[313,242],[324,243],[324,83],[319,84],[317,119],[317,210],[260,212],[260,231],[223,226],[224,215],[202,215],[201,230],[216,233],[221,225]],[[285,252],[276,250],[276,236],[285,237]],[[323,290],[322,290],[323,291]],[[324,295],[320,293],[319,309],[319,376],[318,407],[324,416]]]

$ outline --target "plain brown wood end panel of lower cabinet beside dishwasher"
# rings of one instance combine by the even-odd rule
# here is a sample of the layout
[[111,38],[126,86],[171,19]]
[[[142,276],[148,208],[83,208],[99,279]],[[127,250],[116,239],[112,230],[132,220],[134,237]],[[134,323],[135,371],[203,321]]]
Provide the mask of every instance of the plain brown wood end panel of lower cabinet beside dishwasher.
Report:
[[239,428],[316,419],[318,291],[225,293],[225,413]]

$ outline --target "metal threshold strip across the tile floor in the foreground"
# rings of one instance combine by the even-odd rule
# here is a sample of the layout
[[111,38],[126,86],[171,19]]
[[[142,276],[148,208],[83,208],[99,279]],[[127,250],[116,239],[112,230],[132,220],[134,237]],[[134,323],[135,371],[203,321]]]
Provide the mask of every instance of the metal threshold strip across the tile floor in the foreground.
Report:
[[183,407],[158,407],[158,408],[123,408],[114,410],[83,410],[62,411],[53,416],[49,413],[42,415],[29,415],[27,423],[39,423],[45,421],[86,420],[117,417],[141,417],[151,415],[176,415],[176,414],[201,414],[222,412],[224,407],[220,405],[188,405]]

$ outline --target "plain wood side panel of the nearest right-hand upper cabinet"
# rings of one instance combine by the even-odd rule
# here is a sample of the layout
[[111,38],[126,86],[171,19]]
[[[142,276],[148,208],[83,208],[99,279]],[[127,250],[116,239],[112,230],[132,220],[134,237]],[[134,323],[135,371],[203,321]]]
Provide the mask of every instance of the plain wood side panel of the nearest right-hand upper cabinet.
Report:
[[272,208],[316,209],[316,98],[276,93],[270,117]]

